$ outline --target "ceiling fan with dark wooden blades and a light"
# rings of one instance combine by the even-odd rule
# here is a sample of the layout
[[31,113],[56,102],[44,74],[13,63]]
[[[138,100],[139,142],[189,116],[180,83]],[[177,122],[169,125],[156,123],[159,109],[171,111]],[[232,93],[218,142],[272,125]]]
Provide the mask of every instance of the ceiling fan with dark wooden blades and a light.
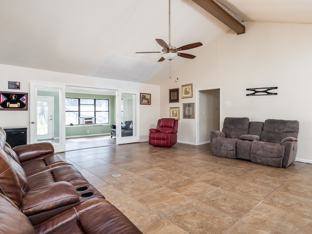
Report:
[[162,47],[161,51],[136,52],[136,53],[137,54],[161,53],[162,57],[158,60],[158,62],[161,62],[165,59],[172,60],[175,59],[177,56],[187,59],[194,59],[196,56],[180,53],[180,51],[193,49],[195,47],[203,45],[201,42],[184,45],[179,48],[176,48],[175,46],[171,45],[171,0],[169,0],[169,44],[167,44],[163,39],[156,39],[156,41]]

